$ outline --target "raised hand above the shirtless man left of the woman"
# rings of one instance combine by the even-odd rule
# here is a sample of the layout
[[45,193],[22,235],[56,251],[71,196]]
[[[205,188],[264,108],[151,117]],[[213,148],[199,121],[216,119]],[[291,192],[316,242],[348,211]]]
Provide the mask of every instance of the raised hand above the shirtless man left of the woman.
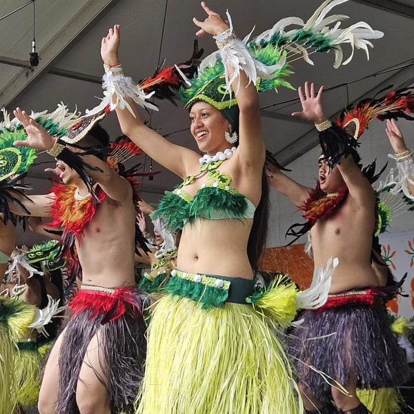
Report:
[[55,144],[55,138],[52,137],[43,127],[37,124],[34,119],[20,108],[13,111],[14,117],[19,119],[21,125],[26,130],[28,139],[24,141],[14,141],[14,146],[28,146],[36,150],[49,150]]

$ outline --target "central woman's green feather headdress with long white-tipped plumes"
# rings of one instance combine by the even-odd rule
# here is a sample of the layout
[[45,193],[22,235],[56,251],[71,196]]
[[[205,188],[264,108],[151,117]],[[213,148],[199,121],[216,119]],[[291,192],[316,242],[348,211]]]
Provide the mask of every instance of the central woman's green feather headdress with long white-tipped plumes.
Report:
[[[286,81],[286,78],[293,73],[290,69],[291,64],[297,59],[304,59],[313,64],[309,55],[314,52],[333,50],[335,68],[351,61],[355,48],[365,50],[369,58],[368,46],[373,45],[368,39],[378,39],[383,36],[382,32],[373,30],[363,21],[348,28],[340,28],[340,21],[348,18],[344,14],[326,17],[332,8],[346,1],[348,0],[326,0],[306,23],[298,17],[282,19],[273,28],[250,41],[251,33],[243,41],[235,39],[229,42],[232,44],[231,52],[226,52],[224,46],[206,57],[199,66],[198,74],[188,80],[187,86],[182,86],[179,90],[179,97],[185,104],[184,108],[188,109],[200,100],[207,101],[219,110],[235,105],[233,92],[228,86],[233,78],[229,79],[226,73],[224,59],[230,61],[236,71],[243,65],[250,81],[255,83],[259,92],[263,92],[277,90],[279,87],[293,89],[293,86]],[[227,16],[232,32],[230,14]],[[297,28],[286,30],[288,26],[297,26]],[[344,62],[343,43],[349,43],[352,48],[350,57]],[[244,51],[240,50],[240,46]]]

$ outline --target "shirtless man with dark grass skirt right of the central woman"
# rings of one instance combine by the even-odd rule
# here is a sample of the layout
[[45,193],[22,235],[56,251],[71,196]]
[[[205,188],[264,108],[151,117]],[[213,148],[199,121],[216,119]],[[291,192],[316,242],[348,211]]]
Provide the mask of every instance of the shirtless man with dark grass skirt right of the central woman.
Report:
[[[322,90],[315,95],[308,82],[299,87],[302,111],[293,115],[313,121],[326,134],[334,127],[322,109]],[[328,301],[303,313],[304,322],[289,341],[306,413],[368,413],[357,387],[396,386],[407,375],[404,352],[389,326],[371,266],[375,193],[357,166],[357,152],[344,142],[336,165],[325,155],[319,157],[319,192],[268,165],[270,185],[295,206],[305,206],[304,217],[317,217],[310,230],[315,268],[331,257],[339,259]]]

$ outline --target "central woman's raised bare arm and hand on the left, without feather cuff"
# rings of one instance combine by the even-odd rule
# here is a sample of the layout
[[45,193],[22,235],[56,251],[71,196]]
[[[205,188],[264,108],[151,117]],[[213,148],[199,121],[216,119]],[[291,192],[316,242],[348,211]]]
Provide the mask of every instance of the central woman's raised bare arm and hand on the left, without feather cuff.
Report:
[[[115,25],[109,29],[108,34],[101,41],[102,60],[110,67],[120,65],[118,58],[119,42],[119,25]],[[148,128],[139,116],[137,106],[132,99],[126,100],[134,115],[127,108],[117,107],[116,112],[122,132],[159,164],[179,177],[186,177],[188,163],[198,163],[199,155],[197,155],[197,152],[172,144],[157,132]]]

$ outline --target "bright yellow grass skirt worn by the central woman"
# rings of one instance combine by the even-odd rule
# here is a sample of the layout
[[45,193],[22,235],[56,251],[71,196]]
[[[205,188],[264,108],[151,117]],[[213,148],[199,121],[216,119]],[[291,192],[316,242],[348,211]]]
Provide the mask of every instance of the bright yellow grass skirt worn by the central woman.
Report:
[[[288,296],[291,304],[294,288]],[[265,313],[250,304],[201,306],[170,294],[157,302],[137,414],[302,413],[288,357]]]

